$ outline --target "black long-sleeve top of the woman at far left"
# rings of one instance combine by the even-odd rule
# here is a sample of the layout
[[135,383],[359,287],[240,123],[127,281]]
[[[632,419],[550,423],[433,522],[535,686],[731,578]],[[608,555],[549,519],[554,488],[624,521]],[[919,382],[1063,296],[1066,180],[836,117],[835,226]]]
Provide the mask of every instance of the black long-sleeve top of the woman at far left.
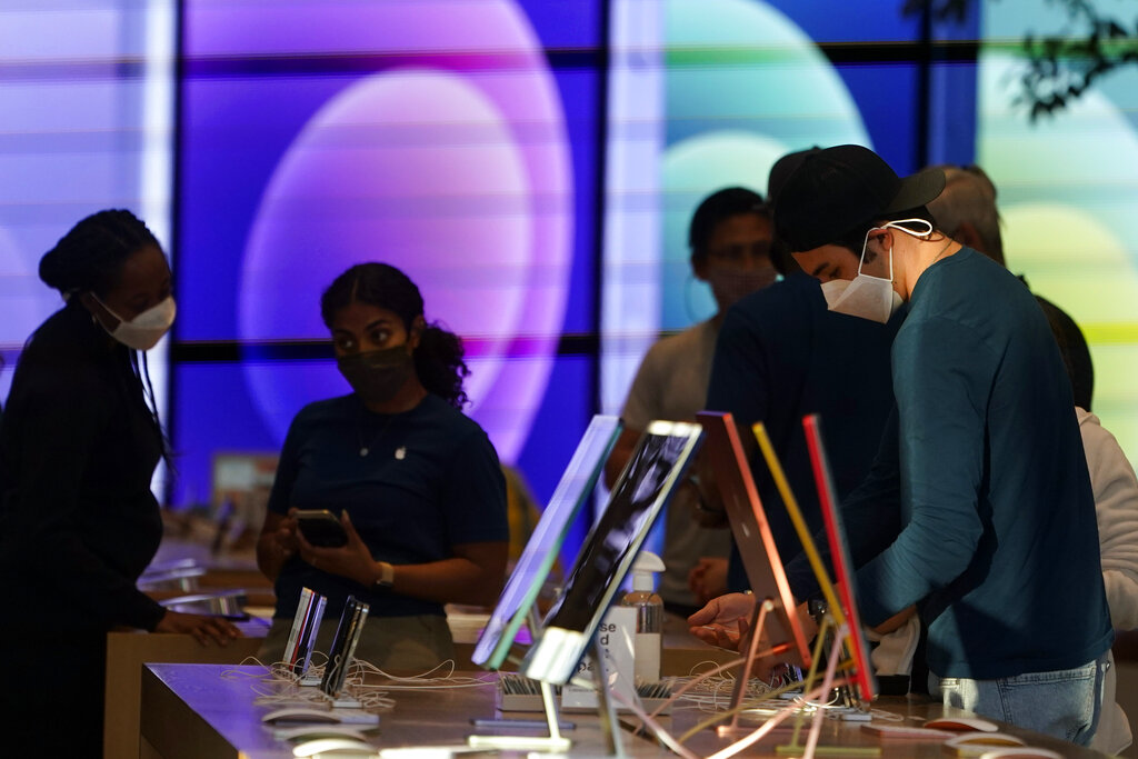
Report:
[[0,426],[0,576],[19,613],[154,629],[135,588],[162,539],[162,432],[130,350],[75,302],[32,336]]

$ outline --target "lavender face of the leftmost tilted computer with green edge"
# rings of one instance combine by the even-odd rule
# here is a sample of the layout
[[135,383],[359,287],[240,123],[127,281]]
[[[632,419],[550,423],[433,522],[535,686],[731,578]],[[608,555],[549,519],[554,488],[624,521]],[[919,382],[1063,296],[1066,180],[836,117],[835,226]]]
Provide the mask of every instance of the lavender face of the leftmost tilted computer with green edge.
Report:
[[476,665],[493,669],[502,663],[561,551],[569,526],[593,492],[619,432],[618,418],[593,416],[475,646],[471,660]]

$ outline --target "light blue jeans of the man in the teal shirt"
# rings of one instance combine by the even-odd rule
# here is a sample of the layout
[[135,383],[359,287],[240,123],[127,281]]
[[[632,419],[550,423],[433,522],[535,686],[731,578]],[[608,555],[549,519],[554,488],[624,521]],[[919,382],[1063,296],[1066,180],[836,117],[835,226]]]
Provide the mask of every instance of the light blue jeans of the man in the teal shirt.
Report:
[[929,694],[946,707],[1009,723],[1078,745],[1089,745],[1103,706],[1106,654],[1050,673],[1028,673],[995,680],[938,677],[929,673]]

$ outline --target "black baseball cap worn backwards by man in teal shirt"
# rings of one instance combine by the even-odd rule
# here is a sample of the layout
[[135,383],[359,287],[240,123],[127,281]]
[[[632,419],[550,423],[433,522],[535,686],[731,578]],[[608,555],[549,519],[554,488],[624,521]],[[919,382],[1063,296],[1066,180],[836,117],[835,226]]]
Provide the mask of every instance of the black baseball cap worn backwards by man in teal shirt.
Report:
[[901,179],[860,145],[808,151],[777,192],[775,233],[795,253],[811,250],[874,220],[922,208],[943,189],[939,168]]

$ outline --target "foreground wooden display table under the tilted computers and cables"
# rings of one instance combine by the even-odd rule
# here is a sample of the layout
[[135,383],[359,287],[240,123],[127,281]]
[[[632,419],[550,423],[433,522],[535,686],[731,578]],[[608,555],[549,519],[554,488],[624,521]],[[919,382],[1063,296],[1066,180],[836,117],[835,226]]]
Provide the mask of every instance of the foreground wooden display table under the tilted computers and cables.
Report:
[[[231,673],[223,676],[223,673]],[[255,706],[253,676],[263,674],[261,667],[224,667],[217,665],[148,665],[142,675],[142,746],[143,759],[287,759],[289,744],[274,741],[271,731],[261,724],[261,716],[270,707]],[[487,682],[484,687],[453,690],[395,691],[391,710],[381,712],[380,733],[373,742],[378,748],[417,745],[460,745],[473,732],[472,718],[493,718],[494,685],[496,675],[476,675]],[[939,704],[904,698],[882,698],[877,709],[901,716],[909,724],[941,716],[946,709]],[[948,713],[964,713],[948,710]],[[681,704],[663,724],[674,734],[695,725],[707,712]],[[531,715],[519,715],[531,718]],[[569,717],[577,728],[566,733],[572,740],[570,756],[604,756],[603,734],[594,715]],[[1029,744],[1058,751],[1070,759],[1100,757],[1094,751],[1079,749],[1055,739],[1005,726],[1001,729],[1024,737]],[[673,757],[654,741],[621,733],[625,752],[632,757]],[[786,741],[785,734],[773,736],[748,749],[742,756],[775,756],[775,749]],[[727,745],[714,731],[703,731],[686,744],[699,756],[709,756]],[[827,719],[823,728],[823,744],[881,745],[883,757],[938,757],[943,752],[939,743],[897,741],[881,743],[864,733],[857,725]]]

